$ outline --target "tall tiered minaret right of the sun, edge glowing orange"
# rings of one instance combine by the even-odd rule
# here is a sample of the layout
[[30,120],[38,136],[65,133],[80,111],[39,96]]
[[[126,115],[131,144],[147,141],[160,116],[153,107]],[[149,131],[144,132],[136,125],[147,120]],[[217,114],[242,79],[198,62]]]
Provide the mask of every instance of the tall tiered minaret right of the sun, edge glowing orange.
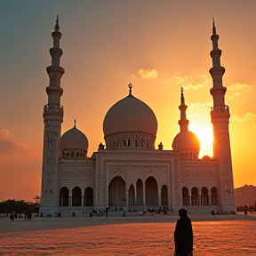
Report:
[[234,181],[228,132],[229,108],[225,105],[227,88],[222,85],[225,68],[220,66],[221,50],[218,48],[219,35],[216,33],[214,18],[212,20],[212,76],[213,108],[211,111],[213,130],[213,157],[219,161],[220,178],[219,204],[222,211],[236,211]]

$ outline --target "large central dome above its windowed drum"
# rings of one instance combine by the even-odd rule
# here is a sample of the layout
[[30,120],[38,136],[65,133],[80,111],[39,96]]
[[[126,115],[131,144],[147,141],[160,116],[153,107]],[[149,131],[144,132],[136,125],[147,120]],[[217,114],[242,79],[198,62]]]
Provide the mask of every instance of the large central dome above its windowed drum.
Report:
[[115,132],[148,132],[156,136],[156,116],[147,104],[130,94],[108,110],[103,132],[105,137]]

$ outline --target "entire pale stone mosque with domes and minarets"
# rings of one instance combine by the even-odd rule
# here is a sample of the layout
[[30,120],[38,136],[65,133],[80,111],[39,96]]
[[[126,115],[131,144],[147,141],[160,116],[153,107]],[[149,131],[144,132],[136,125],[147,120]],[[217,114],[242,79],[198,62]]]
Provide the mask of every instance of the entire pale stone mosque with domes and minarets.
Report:
[[[227,88],[222,84],[225,68],[215,22],[212,22],[213,157],[198,158],[200,141],[188,130],[184,93],[180,95],[180,132],[173,150],[155,148],[157,120],[151,108],[132,94],[109,108],[104,122],[105,145],[87,156],[88,139],[73,128],[61,134],[63,89],[60,78],[60,26],[57,16],[50,49],[52,65],[46,71],[48,104],[44,106],[44,156],[41,216],[86,216],[89,212],[178,212],[236,211],[228,132]],[[128,91],[128,90],[127,90]],[[178,111],[178,110],[177,110]]]

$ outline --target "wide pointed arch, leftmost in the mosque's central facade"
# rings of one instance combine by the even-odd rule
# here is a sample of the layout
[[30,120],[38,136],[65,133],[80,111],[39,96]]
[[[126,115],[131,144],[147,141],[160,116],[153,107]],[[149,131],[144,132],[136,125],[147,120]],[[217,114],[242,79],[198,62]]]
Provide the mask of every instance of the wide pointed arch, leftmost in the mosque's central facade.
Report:
[[122,208],[126,204],[125,182],[120,176],[113,178],[108,185],[109,206]]

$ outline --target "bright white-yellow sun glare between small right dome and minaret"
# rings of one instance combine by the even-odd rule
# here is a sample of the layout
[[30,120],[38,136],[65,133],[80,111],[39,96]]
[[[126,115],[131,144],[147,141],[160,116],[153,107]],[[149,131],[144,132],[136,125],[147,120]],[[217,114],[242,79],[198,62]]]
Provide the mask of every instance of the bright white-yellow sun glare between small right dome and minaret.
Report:
[[200,140],[199,157],[212,156],[212,124],[205,124],[202,121],[189,124],[189,131],[194,132]]

